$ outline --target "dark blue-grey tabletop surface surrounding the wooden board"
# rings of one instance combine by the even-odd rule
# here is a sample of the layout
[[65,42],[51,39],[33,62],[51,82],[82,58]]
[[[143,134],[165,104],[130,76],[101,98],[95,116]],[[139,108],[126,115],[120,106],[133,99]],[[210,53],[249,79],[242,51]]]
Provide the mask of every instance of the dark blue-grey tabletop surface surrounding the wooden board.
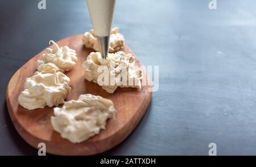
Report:
[[[92,28],[85,0],[0,1],[0,155],[37,155],[6,108],[11,76],[49,40]],[[113,26],[159,90],[131,135],[104,155],[256,155],[256,1],[117,1]]]

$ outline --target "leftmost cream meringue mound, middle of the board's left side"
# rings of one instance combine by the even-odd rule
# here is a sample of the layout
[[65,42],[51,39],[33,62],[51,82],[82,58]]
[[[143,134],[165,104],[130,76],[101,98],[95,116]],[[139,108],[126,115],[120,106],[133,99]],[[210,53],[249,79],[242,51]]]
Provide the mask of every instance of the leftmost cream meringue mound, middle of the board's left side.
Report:
[[61,72],[42,74],[36,71],[33,76],[26,78],[24,91],[18,97],[19,104],[28,110],[57,106],[71,91],[70,79]]

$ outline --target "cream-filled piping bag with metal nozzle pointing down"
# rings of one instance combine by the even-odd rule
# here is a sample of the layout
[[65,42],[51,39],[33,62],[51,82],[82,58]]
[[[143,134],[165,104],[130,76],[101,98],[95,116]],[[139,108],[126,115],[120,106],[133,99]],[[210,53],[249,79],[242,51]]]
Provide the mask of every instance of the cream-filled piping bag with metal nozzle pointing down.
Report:
[[86,3],[93,29],[100,45],[101,57],[106,59],[109,53],[109,40],[115,0],[86,0]]

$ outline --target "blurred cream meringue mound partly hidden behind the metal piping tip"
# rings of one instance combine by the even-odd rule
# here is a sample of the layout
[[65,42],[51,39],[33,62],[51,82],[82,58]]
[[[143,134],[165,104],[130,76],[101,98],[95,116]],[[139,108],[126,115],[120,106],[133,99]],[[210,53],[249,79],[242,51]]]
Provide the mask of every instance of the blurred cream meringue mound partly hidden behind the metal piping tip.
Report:
[[[125,37],[118,33],[118,27],[114,27],[110,33],[110,41],[109,41],[109,52],[113,53],[121,48],[123,48],[123,44],[125,42]],[[92,29],[90,32],[85,32],[82,37],[82,41],[86,48],[92,48],[97,52],[100,52],[100,46],[98,45],[96,34]]]

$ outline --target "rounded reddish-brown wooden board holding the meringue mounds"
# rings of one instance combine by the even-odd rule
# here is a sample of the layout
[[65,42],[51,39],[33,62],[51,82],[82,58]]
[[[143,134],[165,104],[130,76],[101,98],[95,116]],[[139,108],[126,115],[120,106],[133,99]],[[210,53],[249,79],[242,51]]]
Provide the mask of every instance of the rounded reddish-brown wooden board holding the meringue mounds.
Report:
[[[99,85],[84,79],[82,62],[94,50],[83,46],[82,35],[64,38],[57,44],[75,49],[78,58],[75,67],[65,73],[71,79],[69,85],[72,87],[66,101],[77,100],[79,95],[90,93],[112,100],[117,112],[113,118],[108,119],[106,129],[101,130],[100,134],[85,142],[73,144],[61,138],[60,134],[53,130],[50,121],[53,108],[46,106],[43,109],[27,110],[20,106],[18,96],[23,91],[24,81],[26,77],[32,76],[36,71],[36,61],[42,58],[42,54],[45,52],[43,50],[19,68],[8,84],[6,91],[7,108],[16,130],[28,144],[39,149],[38,144],[43,142],[46,144],[46,152],[55,155],[94,155],[113,148],[133,131],[146,112],[151,99],[151,92],[148,92],[149,86],[144,85],[141,90],[117,88],[113,94],[110,94]],[[126,45],[122,51],[134,55]],[[136,64],[141,66],[138,59],[136,59]],[[142,73],[143,79],[146,79],[146,71]]]

